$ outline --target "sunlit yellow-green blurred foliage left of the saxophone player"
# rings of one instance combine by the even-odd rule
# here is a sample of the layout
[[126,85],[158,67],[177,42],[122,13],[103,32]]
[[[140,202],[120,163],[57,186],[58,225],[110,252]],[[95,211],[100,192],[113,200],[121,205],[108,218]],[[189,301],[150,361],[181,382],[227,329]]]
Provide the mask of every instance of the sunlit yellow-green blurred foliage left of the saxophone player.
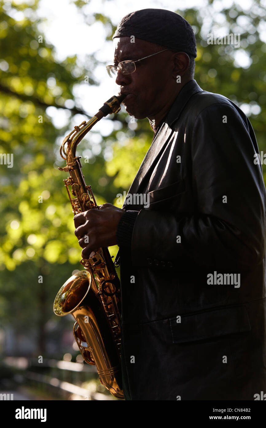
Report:
[[[81,108],[67,108],[74,104],[73,86],[84,84],[86,75],[87,84],[95,81],[88,65],[79,66],[76,77],[76,57],[57,61],[38,28],[38,1],[31,7],[36,12],[32,18],[27,18],[27,10],[26,3],[0,2],[0,153],[13,156],[12,167],[5,158],[0,165],[0,317],[5,327],[10,323],[18,332],[39,326],[39,349],[44,350],[53,299],[71,272],[81,267],[63,184],[66,174],[56,163],[69,125],[56,128],[47,112],[48,107],[63,109],[69,119],[83,114]],[[18,11],[24,16],[20,21],[12,18]],[[89,67],[94,66],[93,59]],[[90,183],[93,188],[99,175]],[[105,202],[103,197],[98,201]]]

